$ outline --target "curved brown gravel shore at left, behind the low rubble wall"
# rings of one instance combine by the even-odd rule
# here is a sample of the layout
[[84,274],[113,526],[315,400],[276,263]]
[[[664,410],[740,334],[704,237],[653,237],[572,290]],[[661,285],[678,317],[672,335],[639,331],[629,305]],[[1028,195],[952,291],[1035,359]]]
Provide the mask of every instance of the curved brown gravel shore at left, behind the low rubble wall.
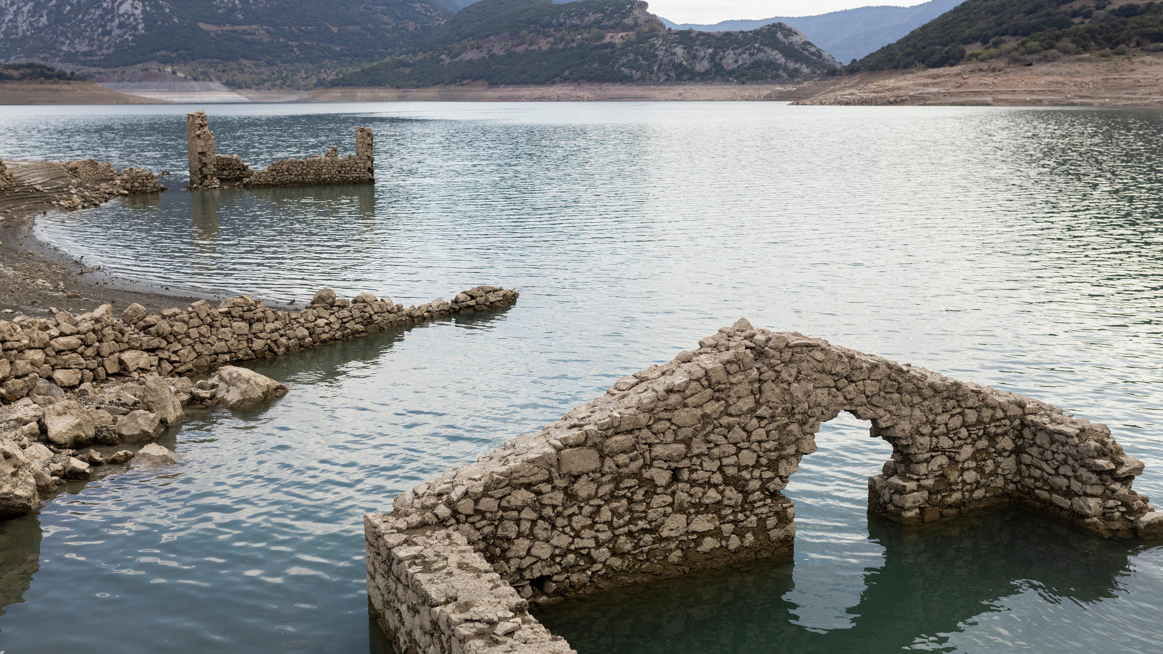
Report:
[[[16,184],[0,191],[0,312],[44,315],[50,307],[77,313],[110,303],[120,312],[133,303],[185,306],[206,298],[167,293],[164,287],[136,284],[84,265],[36,239],[36,216],[59,211],[52,202],[78,183],[59,162],[5,161]],[[164,178],[163,178],[164,179]],[[97,200],[104,200],[99,194]],[[12,313],[0,313],[0,319]]]

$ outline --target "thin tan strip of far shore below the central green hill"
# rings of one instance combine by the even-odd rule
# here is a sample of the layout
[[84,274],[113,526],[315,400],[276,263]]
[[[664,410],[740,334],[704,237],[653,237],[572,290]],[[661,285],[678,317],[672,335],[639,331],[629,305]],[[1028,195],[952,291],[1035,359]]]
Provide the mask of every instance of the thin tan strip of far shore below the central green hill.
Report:
[[783,100],[809,98],[832,88],[837,78],[798,84],[549,84],[515,86],[431,86],[388,88],[350,86],[316,88],[302,97],[314,102],[573,102],[676,100]]

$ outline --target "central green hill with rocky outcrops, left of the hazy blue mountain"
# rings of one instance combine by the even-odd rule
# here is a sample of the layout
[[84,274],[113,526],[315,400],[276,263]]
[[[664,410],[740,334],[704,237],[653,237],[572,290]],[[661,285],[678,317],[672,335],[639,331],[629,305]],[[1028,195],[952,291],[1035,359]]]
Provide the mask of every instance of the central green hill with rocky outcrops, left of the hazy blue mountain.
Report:
[[635,0],[480,0],[427,30],[411,51],[329,84],[786,81],[839,67],[785,24],[673,31],[647,9]]

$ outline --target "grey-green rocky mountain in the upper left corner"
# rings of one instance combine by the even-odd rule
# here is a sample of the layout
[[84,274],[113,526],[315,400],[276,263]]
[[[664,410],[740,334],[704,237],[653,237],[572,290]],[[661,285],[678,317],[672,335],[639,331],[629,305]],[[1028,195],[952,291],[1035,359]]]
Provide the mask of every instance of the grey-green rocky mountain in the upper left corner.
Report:
[[0,0],[0,62],[180,66],[236,85],[309,86],[380,61],[458,0]]

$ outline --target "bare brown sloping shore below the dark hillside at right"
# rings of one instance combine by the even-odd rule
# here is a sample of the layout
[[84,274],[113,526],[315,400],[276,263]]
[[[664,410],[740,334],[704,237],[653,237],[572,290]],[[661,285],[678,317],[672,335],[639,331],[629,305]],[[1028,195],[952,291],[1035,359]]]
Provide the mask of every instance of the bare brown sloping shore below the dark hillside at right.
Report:
[[844,76],[799,105],[1163,106],[1163,54]]

